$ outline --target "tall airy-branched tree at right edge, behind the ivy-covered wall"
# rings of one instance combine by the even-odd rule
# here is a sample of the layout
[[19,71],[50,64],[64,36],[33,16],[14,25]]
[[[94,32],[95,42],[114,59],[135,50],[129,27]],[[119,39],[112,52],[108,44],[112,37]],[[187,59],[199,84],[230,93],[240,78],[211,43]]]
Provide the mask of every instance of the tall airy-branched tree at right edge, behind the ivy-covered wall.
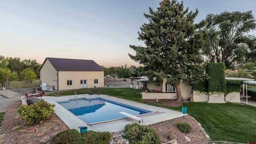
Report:
[[208,31],[203,53],[209,62],[224,62],[230,68],[232,62],[255,60],[256,38],[248,35],[256,28],[252,11],[208,14],[200,23]]

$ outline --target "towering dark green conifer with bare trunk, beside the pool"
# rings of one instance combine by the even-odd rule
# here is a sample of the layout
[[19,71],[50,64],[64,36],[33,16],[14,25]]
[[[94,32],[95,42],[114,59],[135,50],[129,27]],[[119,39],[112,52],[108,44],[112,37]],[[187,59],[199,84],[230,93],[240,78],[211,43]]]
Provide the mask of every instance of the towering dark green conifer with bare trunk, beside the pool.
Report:
[[144,46],[130,45],[136,55],[132,60],[145,66],[144,73],[155,85],[160,86],[163,78],[176,87],[177,101],[182,100],[180,82],[193,84],[204,78],[203,62],[199,56],[204,44],[204,32],[197,30],[194,19],[198,14],[184,10],[183,2],[163,0],[157,11],[149,8],[144,14],[148,24],[140,27],[139,40]]

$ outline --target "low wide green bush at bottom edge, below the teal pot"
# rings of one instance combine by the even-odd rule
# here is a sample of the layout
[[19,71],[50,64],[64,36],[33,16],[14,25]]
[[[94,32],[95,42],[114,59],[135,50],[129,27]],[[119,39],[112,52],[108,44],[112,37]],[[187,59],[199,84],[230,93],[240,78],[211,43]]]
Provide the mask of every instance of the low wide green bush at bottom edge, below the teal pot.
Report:
[[107,144],[110,140],[109,132],[88,132],[80,133],[75,129],[64,130],[51,140],[51,144]]

